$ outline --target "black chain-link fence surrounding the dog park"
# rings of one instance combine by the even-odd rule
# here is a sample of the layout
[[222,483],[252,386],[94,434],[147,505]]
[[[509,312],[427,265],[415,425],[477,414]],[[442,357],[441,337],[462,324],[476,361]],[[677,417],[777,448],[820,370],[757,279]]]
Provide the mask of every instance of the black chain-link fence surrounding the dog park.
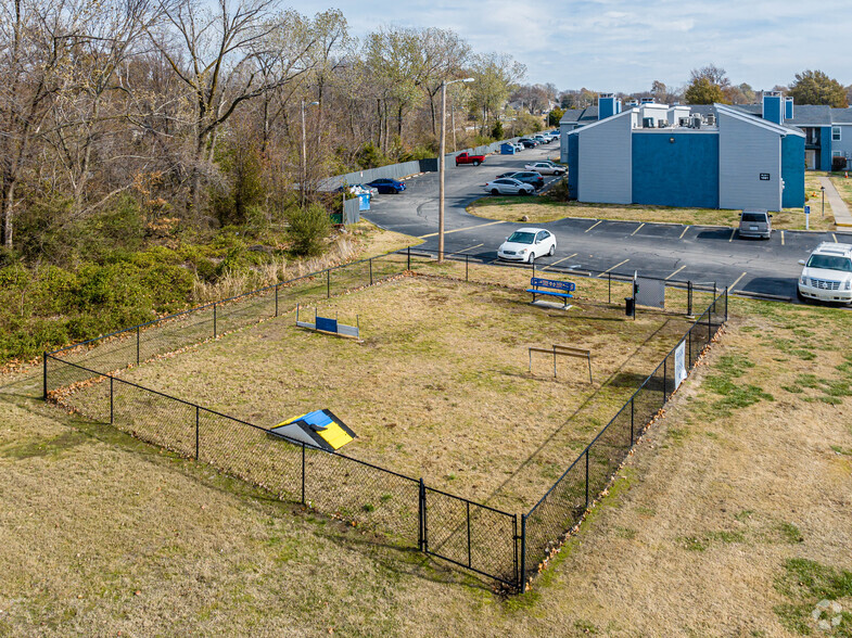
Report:
[[[565,532],[607,487],[636,439],[676,390],[678,348],[690,369],[727,315],[727,291],[707,310],[592,441],[547,494],[530,510],[500,511],[428,487],[422,478],[327,452],[192,401],[123,380],[116,372],[217,339],[264,319],[407,271],[495,283],[493,264],[470,255],[398,251],[314,272],[262,290],[135,326],[44,354],[43,392],[96,421],[111,423],[150,444],[209,463],[279,498],[301,502],[356,525],[394,536],[400,544],[521,588]],[[463,265],[462,265],[463,261]],[[462,269],[463,268],[463,269]],[[595,277],[574,269],[504,269],[499,283],[525,286],[531,275]],[[631,276],[606,276],[608,294],[632,290]],[[691,315],[690,282],[681,289],[678,311]],[[715,292],[715,291],[714,291]],[[685,293],[685,294],[684,294]],[[682,370],[681,375],[685,373]]]

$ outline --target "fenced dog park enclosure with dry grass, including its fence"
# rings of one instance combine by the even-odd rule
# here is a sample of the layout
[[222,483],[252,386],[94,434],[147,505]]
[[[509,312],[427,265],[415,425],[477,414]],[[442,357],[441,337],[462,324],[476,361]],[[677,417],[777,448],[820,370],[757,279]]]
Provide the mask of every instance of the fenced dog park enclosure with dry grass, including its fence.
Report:
[[[583,299],[582,283],[577,307],[556,318],[526,303],[529,270],[480,267],[494,284],[399,279],[403,271],[461,275],[461,265],[412,265],[406,254],[384,259],[334,271],[334,292],[353,294],[332,295],[331,271],[318,273],[154,329],[131,329],[91,350],[51,356],[47,388],[140,438],[517,586],[571,526],[589,493],[594,498],[606,485],[634,435],[674,390],[677,342],[689,331],[694,361],[719,318],[701,323],[676,312],[645,314],[635,333],[613,344],[614,327],[633,321],[616,319],[619,307]],[[293,302],[358,315],[365,343],[295,329],[287,317]],[[276,316],[279,321],[188,347],[205,333],[209,340],[211,329],[221,334]],[[526,347],[536,343],[588,347],[600,381],[590,385],[582,367],[556,381],[530,375]],[[607,350],[608,344],[614,347]],[[181,348],[188,352],[163,357]],[[669,355],[672,365],[649,383],[648,369]],[[136,367],[135,359],[152,361]],[[132,369],[114,373],[128,363]],[[645,393],[637,393],[643,380]],[[603,433],[595,438],[611,414],[624,421],[619,408],[628,404],[626,429],[612,441]],[[319,407],[358,432],[346,456],[269,435],[276,418]],[[571,464],[574,458],[585,460]],[[577,492],[573,477],[581,469]],[[531,514],[509,513],[525,511],[545,492]]]

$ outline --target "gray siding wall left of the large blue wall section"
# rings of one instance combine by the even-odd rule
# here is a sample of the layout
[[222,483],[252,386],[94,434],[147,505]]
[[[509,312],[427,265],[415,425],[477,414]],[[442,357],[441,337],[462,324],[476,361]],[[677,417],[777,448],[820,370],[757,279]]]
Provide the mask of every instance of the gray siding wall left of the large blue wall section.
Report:
[[580,136],[580,165],[576,167],[580,202],[632,203],[632,123],[630,114],[615,116],[574,133]]

